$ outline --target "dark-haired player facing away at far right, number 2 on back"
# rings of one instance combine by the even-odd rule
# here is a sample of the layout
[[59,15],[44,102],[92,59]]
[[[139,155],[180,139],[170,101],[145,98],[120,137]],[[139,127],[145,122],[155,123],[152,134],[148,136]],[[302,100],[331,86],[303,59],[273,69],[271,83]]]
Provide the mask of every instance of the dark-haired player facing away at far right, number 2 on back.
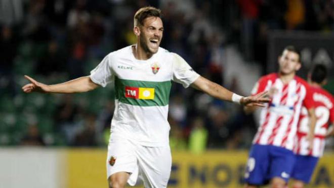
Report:
[[[296,163],[291,178],[294,188],[303,188],[309,183],[319,158],[323,155],[325,137],[328,134],[328,122],[334,125],[334,97],[321,88],[326,84],[327,70],[322,64],[313,67],[309,74],[310,89],[313,91],[314,111],[317,122],[314,130],[313,149],[309,149],[307,134],[309,119],[307,110],[302,108],[297,130],[297,145],[295,146]],[[330,134],[330,133],[329,133]]]

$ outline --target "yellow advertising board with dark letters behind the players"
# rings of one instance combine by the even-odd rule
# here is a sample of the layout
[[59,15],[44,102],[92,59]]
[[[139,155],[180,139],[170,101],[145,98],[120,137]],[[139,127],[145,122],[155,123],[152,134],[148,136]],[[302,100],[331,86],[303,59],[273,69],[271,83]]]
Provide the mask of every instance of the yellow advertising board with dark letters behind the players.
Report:
[[[173,166],[168,187],[238,188],[243,187],[247,151],[208,151],[195,155],[172,152]],[[319,161],[307,187],[334,187],[334,154]],[[68,151],[68,188],[108,187],[104,149],[70,149]],[[130,187],[130,186],[129,186]],[[136,188],[143,185],[139,183]]]

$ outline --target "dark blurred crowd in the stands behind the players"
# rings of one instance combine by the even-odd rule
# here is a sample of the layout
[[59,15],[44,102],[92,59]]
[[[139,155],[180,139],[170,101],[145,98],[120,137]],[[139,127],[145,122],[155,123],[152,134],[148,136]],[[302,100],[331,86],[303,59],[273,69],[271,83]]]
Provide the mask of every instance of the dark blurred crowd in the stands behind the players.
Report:
[[[245,59],[265,66],[269,29],[334,26],[334,4],[321,0],[0,0],[0,145],[105,146],[113,84],[83,94],[26,95],[23,75],[46,84],[89,75],[105,55],[136,42],[133,16],[148,5],[163,12],[161,47],[236,93],[238,81],[223,79],[226,45],[239,44]],[[240,106],[178,84],[169,122],[172,149],[193,152],[248,148],[256,132]]]

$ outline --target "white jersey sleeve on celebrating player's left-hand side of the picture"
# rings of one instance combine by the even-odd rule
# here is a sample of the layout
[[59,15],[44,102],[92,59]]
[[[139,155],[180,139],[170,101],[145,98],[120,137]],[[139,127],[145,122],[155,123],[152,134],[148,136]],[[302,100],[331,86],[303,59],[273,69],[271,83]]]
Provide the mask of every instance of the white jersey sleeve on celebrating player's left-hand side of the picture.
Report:
[[114,77],[109,56],[110,54],[105,56],[100,64],[91,71],[90,75],[91,80],[102,87],[106,87]]

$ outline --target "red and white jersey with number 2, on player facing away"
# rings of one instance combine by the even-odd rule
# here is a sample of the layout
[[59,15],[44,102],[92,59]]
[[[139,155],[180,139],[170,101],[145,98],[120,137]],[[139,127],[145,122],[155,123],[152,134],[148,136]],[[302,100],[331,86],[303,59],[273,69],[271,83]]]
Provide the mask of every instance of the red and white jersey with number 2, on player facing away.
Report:
[[313,149],[308,149],[309,118],[307,109],[303,106],[297,130],[297,145],[295,152],[303,156],[321,157],[325,148],[325,135],[328,122],[334,122],[334,98],[320,87],[310,87],[313,90],[314,111],[317,118],[314,129]]

